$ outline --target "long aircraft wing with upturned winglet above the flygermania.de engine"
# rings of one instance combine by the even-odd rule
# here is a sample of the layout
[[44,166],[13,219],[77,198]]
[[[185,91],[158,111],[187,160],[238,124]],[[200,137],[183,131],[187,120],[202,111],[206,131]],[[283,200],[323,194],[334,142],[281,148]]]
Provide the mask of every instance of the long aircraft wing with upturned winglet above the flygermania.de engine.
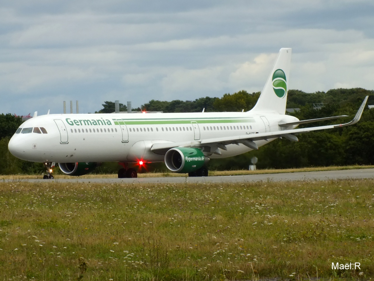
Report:
[[[335,124],[335,125],[327,125],[327,126],[319,126],[319,127],[309,127],[309,128],[301,128],[301,129],[291,129],[291,130],[281,130],[275,132],[266,132],[266,133],[257,133],[252,135],[239,135],[239,136],[229,136],[229,137],[222,137],[222,138],[212,138],[212,139],[202,139],[199,141],[192,141],[192,142],[170,142],[170,143],[155,143],[151,147],[151,151],[156,153],[165,153],[168,149],[182,146],[182,147],[199,147],[199,146],[216,146],[218,148],[227,150],[226,145],[228,144],[237,144],[242,143],[243,145],[248,146],[252,149],[258,149],[257,144],[254,141],[260,140],[268,140],[274,138],[286,138],[291,141],[298,141],[298,138],[295,134],[305,133],[305,132],[312,132],[318,130],[325,130],[325,129],[333,129],[337,127],[344,127],[356,124],[362,115],[362,112],[365,109],[366,102],[368,100],[368,96],[365,97],[364,101],[362,102],[360,108],[358,109],[356,116],[352,119],[352,121],[344,124]],[[220,154],[219,151],[217,151]]]

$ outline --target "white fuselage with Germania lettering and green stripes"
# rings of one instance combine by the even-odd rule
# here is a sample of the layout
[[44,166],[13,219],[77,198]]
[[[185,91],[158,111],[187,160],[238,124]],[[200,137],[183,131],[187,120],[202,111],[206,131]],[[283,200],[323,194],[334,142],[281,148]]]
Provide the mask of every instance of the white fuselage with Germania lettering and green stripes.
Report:
[[[289,129],[279,127],[280,121],[295,120],[288,115],[258,112],[41,115],[21,125],[33,128],[32,132],[13,135],[9,150],[34,162],[155,162],[163,161],[164,155],[150,150],[153,143],[274,132]],[[272,140],[255,142],[260,147]],[[210,153],[209,157],[230,157],[250,150],[242,144],[230,144],[222,155]]]

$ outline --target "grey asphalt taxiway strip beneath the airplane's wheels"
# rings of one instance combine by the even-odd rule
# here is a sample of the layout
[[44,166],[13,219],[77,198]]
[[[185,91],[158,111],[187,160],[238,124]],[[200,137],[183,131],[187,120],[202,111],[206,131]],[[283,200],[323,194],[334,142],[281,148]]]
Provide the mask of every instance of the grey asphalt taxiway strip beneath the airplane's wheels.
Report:
[[[306,180],[329,180],[329,179],[364,179],[374,178],[374,169],[338,170],[322,172],[300,172],[300,173],[274,173],[261,175],[243,176],[208,176],[208,177],[161,177],[161,178],[75,178],[75,179],[19,179],[25,182],[92,182],[92,183],[180,183],[180,182],[259,182],[259,181],[306,181]],[[3,180],[4,181],[4,180]],[[14,182],[15,180],[5,180]]]

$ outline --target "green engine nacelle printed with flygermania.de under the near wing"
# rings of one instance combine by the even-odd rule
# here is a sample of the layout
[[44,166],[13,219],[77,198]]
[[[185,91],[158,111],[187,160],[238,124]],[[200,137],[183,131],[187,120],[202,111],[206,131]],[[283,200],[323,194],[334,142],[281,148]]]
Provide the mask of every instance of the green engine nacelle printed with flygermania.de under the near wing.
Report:
[[175,147],[165,153],[166,167],[174,173],[194,172],[208,161],[198,148]]

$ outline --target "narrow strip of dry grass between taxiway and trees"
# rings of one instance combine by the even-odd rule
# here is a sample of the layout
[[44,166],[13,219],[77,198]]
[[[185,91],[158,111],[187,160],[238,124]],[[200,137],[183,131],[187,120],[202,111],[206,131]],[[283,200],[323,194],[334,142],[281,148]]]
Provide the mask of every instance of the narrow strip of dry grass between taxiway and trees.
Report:
[[[237,175],[257,175],[269,173],[298,173],[298,172],[317,172],[317,171],[334,171],[334,170],[353,170],[353,169],[373,169],[372,166],[329,166],[329,167],[308,167],[297,169],[263,169],[263,170],[236,170],[236,171],[209,171],[209,176],[237,176]],[[139,178],[156,178],[156,177],[186,177],[188,174],[179,173],[138,173]],[[41,175],[0,175],[0,179],[39,179]],[[56,175],[62,179],[74,179],[76,176]],[[117,174],[88,174],[80,176],[80,178],[117,178]]]

